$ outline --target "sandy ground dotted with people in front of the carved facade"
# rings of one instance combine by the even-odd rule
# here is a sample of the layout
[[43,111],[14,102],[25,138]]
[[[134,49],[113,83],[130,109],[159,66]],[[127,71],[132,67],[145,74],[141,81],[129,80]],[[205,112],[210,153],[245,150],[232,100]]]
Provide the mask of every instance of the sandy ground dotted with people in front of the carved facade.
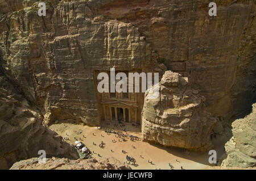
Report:
[[[126,142],[119,142],[114,133],[108,135],[105,131],[100,130],[100,127],[88,127],[82,124],[62,122],[53,124],[49,128],[62,137],[68,137],[69,140],[67,140],[67,142],[69,142],[69,144],[75,145],[75,137],[78,140],[81,139],[90,151],[96,153],[92,155],[94,158],[98,158],[98,154],[100,154],[101,157],[114,157],[121,162],[126,162],[126,155],[132,156],[136,159],[136,163],[138,164],[138,166],[130,165],[132,169],[170,170],[169,163],[174,166],[174,169],[181,169],[181,166],[184,169],[203,169],[209,166],[209,155],[207,152],[197,153],[177,148],[166,148],[144,141],[131,141],[129,138]],[[142,134],[138,132],[127,133],[142,137]],[[112,140],[114,139],[117,142],[113,143]],[[105,148],[98,146],[101,141],[105,142]],[[96,143],[96,145],[93,145],[93,142]],[[133,148],[132,145],[135,146],[135,148]],[[127,153],[122,153],[122,150],[125,150]],[[148,163],[148,160],[152,161],[152,164]]]

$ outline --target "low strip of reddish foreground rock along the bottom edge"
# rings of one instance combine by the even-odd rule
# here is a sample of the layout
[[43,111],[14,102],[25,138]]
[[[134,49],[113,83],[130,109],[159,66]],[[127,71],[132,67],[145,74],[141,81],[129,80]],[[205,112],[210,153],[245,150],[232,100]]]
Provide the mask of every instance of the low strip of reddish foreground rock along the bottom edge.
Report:
[[114,158],[91,158],[71,160],[67,158],[47,158],[46,163],[38,163],[31,158],[14,163],[10,170],[127,170],[131,167]]

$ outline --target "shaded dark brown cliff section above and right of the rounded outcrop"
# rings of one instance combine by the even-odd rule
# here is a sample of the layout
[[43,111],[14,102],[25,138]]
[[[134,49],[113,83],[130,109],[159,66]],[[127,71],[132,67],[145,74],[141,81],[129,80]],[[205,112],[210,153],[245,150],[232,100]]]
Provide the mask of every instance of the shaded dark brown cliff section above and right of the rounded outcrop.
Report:
[[[131,22],[169,70],[189,77],[208,111],[241,115],[256,100],[255,1],[106,1],[94,12]],[[233,117],[232,117],[233,118]]]

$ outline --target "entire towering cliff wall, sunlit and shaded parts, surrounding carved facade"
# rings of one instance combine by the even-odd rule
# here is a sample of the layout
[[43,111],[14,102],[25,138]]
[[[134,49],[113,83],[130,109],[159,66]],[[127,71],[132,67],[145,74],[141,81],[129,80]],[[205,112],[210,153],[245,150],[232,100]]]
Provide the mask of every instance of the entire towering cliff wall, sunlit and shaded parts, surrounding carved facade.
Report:
[[210,1],[44,2],[40,17],[38,1],[0,1],[0,56],[46,124],[99,125],[93,70],[113,67],[148,72],[164,63],[226,120],[255,100],[254,0],[216,1],[215,17]]

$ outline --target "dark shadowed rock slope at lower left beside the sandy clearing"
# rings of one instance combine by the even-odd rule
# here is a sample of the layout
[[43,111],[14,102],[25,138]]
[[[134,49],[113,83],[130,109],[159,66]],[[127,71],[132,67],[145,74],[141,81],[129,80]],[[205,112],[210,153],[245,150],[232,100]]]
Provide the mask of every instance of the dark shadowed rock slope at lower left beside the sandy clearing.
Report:
[[79,158],[73,146],[42,126],[42,116],[0,75],[0,169],[9,169],[20,159],[39,157]]

